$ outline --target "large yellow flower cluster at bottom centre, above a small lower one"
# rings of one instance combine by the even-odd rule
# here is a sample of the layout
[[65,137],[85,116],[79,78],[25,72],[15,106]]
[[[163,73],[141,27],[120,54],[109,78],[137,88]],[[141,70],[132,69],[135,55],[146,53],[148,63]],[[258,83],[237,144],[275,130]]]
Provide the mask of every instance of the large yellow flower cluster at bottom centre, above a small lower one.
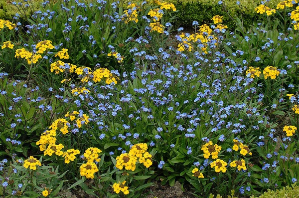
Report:
[[139,163],[149,168],[152,165],[152,156],[147,152],[147,149],[148,145],[145,143],[133,145],[129,153],[121,154],[116,158],[115,167],[119,170],[123,170],[125,167],[126,170],[135,171],[136,163],[139,161]]

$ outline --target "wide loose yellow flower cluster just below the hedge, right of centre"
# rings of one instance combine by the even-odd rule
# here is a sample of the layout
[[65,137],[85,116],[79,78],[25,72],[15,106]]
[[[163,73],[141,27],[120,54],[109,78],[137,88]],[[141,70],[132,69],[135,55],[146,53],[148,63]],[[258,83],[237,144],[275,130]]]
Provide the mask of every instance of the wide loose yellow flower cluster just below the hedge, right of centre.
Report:
[[[221,25],[221,24],[219,24]],[[217,25],[218,26],[218,25]],[[192,50],[192,42],[197,42],[198,40],[203,43],[204,47],[201,48],[202,51],[205,53],[208,53],[206,51],[206,46],[209,41],[211,41],[210,36],[212,36],[214,39],[216,39],[215,36],[211,35],[212,29],[207,25],[203,24],[199,26],[199,31],[195,34],[185,34],[182,33],[180,37],[182,38],[182,42],[178,44],[178,51],[191,51]]]

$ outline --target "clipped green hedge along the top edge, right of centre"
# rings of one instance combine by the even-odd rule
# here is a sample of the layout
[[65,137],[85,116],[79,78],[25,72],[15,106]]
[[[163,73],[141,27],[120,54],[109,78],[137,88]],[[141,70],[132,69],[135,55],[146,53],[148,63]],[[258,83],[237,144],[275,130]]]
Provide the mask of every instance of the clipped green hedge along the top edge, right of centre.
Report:
[[[176,25],[190,26],[194,20],[202,23],[211,23],[211,18],[214,15],[222,15],[223,24],[227,25],[229,29],[234,29],[236,24],[231,18],[237,16],[243,17],[243,23],[245,27],[250,27],[253,21],[262,19],[262,14],[258,14],[255,8],[261,3],[260,0],[239,0],[240,6],[237,5],[237,0],[222,0],[226,10],[223,9],[223,5],[219,5],[219,0],[169,0],[174,3],[177,10],[178,18],[175,21]],[[269,5],[272,8],[276,8],[276,5],[281,0],[271,0]]]

